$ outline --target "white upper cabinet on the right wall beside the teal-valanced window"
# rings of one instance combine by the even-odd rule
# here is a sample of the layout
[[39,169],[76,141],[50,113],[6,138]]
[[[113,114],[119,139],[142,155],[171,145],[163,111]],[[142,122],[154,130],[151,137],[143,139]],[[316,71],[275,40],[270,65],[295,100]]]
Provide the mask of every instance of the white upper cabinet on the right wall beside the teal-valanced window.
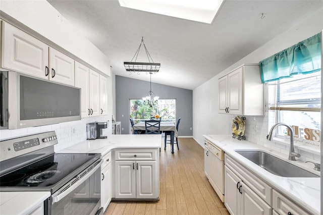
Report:
[[259,65],[242,65],[218,80],[219,113],[264,115],[263,84]]

